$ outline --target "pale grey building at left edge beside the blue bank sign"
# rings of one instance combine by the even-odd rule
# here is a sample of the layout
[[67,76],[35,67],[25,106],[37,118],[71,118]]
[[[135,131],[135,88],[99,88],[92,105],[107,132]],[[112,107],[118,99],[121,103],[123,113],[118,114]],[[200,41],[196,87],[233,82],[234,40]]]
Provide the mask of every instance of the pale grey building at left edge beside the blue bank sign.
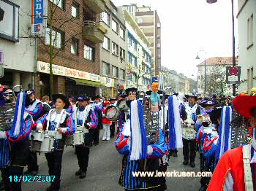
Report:
[[29,38],[31,1],[0,1],[3,19],[0,20],[0,56],[4,77],[0,84],[5,88],[22,85],[23,90],[34,85],[35,41]]

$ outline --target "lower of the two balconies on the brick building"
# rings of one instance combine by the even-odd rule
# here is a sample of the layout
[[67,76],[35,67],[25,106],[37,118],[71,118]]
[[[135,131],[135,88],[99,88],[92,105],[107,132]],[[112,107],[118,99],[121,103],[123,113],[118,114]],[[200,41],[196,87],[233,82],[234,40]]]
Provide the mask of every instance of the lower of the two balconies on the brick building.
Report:
[[103,42],[104,34],[99,26],[97,26],[97,23],[91,20],[86,20],[83,25],[83,38],[97,44]]

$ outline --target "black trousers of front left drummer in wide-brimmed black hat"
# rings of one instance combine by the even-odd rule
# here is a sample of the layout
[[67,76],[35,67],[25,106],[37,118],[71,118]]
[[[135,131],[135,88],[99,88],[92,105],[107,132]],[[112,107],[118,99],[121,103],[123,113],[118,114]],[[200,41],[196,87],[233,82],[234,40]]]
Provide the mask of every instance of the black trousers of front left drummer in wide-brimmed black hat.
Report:
[[63,150],[54,150],[53,152],[45,153],[48,163],[49,175],[55,176],[55,179],[50,184],[52,187],[59,188],[61,184],[61,162]]

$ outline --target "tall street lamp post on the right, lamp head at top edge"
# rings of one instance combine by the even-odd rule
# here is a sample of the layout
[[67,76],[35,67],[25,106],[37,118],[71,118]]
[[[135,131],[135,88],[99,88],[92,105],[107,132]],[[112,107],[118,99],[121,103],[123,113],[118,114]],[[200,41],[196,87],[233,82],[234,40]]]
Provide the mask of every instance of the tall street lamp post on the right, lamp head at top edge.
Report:
[[[208,4],[216,3],[218,0],[206,0]],[[236,47],[236,40],[235,40],[235,17],[234,17],[234,0],[231,0],[232,6],[232,47],[233,47],[233,67],[236,66],[236,56],[235,56],[235,47]],[[236,84],[233,84],[233,96],[236,96]]]

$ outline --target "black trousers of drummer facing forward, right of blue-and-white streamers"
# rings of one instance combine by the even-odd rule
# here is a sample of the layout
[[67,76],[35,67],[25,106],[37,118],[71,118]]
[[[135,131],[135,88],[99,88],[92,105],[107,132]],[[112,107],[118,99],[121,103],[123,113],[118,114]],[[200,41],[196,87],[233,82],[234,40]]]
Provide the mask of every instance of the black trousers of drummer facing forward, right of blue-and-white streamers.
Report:
[[195,149],[196,149],[196,142],[195,139],[192,140],[187,140],[187,139],[182,139],[183,141],[183,156],[184,160],[187,160],[190,162],[195,162]]

